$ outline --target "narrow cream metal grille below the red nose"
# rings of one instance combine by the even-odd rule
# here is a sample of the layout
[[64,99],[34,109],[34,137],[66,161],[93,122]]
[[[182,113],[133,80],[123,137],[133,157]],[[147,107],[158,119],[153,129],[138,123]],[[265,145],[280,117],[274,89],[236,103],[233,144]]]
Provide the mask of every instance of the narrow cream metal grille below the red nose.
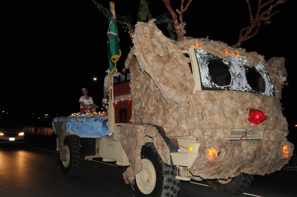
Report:
[[247,131],[244,129],[234,129],[231,131],[230,136],[227,141],[238,141],[244,136],[241,140],[262,140],[264,131]]

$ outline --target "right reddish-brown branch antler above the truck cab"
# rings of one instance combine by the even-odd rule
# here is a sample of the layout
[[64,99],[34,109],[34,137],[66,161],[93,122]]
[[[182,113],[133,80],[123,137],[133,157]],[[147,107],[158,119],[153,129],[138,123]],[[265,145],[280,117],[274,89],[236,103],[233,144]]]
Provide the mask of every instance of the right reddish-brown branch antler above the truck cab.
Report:
[[[258,0],[258,10],[255,15],[255,19],[253,18],[252,8],[249,0],[246,1],[249,8],[249,20],[251,24],[250,26],[242,28],[239,31],[238,41],[234,45],[231,45],[231,47],[239,47],[242,42],[255,36],[259,32],[259,28],[262,22],[264,22],[264,24],[270,24],[270,17],[279,12],[278,10],[271,13],[272,9],[274,9],[274,7],[276,7],[278,4],[285,3],[287,0],[277,0],[276,2],[274,2],[275,0],[269,0],[263,3],[263,5],[261,5],[262,0]],[[267,10],[262,11],[262,9],[267,6],[269,6]]]

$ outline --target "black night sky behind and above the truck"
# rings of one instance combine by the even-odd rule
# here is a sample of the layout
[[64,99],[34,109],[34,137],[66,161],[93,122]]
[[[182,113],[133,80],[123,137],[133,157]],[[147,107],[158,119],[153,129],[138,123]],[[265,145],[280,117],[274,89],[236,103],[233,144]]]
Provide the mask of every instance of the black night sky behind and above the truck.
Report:
[[[98,1],[109,7],[106,0]],[[129,3],[127,3],[129,2]],[[134,19],[137,1],[114,1],[116,13]],[[161,0],[151,1],[153,16],[167,11]],[[1,111],[30,111],[70,115],[78,112],[81,89],[88,88],[95,103],[102,99],[103,77],[108,61],[106,52],[107,18],[91,0],[73,1],[7,1],[2,3]],[[172,7],[179,8],[172,4]],[[247,51],[257,51],[266,61],[286,58],[289,86],[283,92],[290,128],[296,124],[296,77],[292,46],[295,46],[293,1],[278,5],[279,13],[271,24],[243,42]],[[184,13],[186,36],[206,37],[234,44],[239,30],[249,25],[246,1],[192,1]],[[160,26],[160,29],[163,27]],[[118,70],[132,47],[129,34],[118,25],[122,56]],[[163,31],[167,34],[166,31]],[[294,34],[294,35],[293,35]],[[93,78],[97,77],[97,81]]]

